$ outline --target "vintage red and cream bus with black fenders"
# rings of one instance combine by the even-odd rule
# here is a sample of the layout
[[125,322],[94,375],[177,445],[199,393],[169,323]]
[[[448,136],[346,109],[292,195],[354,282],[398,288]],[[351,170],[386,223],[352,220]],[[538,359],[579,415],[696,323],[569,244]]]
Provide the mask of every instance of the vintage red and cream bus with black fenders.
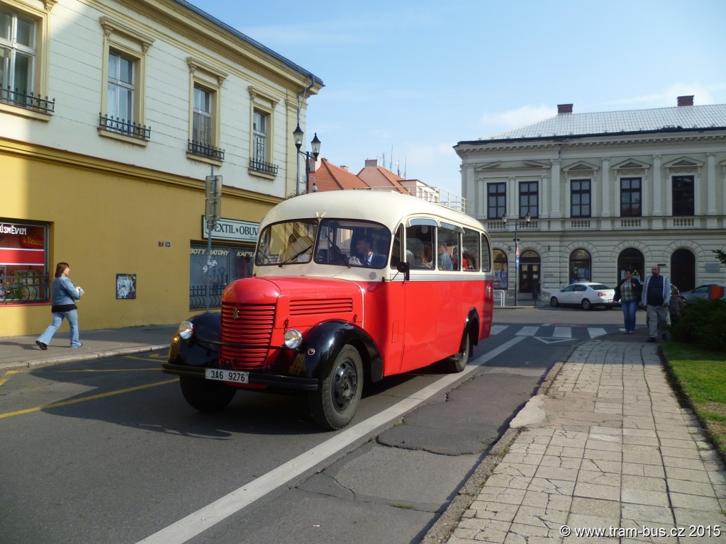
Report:
[[221,313],[181,323],[163,371],[200,411],[240,389],[300,390],[340,429],[365,381],[440,360],[462,371],[492,295],[489,235],[469,215],[391,191],[305,194],[267,213],[253,276],[227,286]]

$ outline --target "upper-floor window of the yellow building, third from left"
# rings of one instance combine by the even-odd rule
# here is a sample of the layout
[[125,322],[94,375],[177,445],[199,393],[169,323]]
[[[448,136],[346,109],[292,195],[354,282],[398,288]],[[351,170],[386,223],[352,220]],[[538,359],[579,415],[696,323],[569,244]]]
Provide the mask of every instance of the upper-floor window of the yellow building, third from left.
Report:
[[226,73],[193,57],[189,65],[189,145],[187,157],[212,164],[224,160],[221,138],[221,88]]

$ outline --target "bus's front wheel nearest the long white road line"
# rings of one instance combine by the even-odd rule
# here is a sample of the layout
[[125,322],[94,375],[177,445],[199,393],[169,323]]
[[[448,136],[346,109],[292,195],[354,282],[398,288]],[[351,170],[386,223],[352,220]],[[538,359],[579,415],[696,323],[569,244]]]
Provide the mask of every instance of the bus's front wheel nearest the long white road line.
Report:
[[358,409],[363,390],[363,362],[351,345],[335,358],[317,391],[310,392],[310,411],[317,424],[327,429],[341,429],[351,422]]

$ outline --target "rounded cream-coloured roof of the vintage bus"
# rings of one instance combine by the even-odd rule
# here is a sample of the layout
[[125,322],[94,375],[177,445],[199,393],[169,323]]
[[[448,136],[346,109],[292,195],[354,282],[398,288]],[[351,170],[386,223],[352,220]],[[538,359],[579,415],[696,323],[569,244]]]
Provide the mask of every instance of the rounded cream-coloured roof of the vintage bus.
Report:
[[375,221],[391,232],[403,218],[439,218],[478,231],[484,226],[470,215],[444,205],[397,191],[341,190],[303,194],[280,202],[262,220],[261,226],[291,219],[346,218]]

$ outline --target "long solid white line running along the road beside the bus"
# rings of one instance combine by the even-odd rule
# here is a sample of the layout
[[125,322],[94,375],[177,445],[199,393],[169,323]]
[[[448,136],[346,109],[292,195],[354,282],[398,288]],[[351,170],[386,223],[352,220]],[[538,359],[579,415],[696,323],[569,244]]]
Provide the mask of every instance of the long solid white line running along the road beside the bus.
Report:
[[285,482],[289,482],[291,479],[309,471],[312,467],[320,463],[320,461],[337,454],[340,450],[347,448],[348,445],[359,440],[359,438],[366,436],[378,427],[387,424],[389,421],[401,417],[407,411],[423,403],[424,400],[450,387],[452,383],[460,380],[462,376],[470,374],[477,367],[484,365],[484,363],[497,357],[497,355],[509,350],[510,347],[521,342],[524,338],[521,336],[510,339],[505,344],[486,353],[486,355],[482,355],[471,361],[464,371],[458,374],[446,374],[446,376],[442,376],[436,382],[424,387],[414,395],[401,400],[401,402],[391,406],[391,408],[387,408],[383,412],[365,421],[361,421],[355,426],[349,427],[343,432],[340,432],[340,434],[336,434],[330,440],[326,440],[315,448],[306,451],[301,456],[287,461],[287,463],[278,466],[277,469],[273,469],[257,479],[253,479],[251,482],[232,491],[229,495],[215,500],[208,506],[189,514],[184,519],[180,519],[178,522],[144,538],[138,544],[182,544],[187,542],[187,540],[199,535],[214,524],[232,516],[232,514],[236,514],[255,500],[264,497],[264,495],[277,489],[277,487],[285,484]]

